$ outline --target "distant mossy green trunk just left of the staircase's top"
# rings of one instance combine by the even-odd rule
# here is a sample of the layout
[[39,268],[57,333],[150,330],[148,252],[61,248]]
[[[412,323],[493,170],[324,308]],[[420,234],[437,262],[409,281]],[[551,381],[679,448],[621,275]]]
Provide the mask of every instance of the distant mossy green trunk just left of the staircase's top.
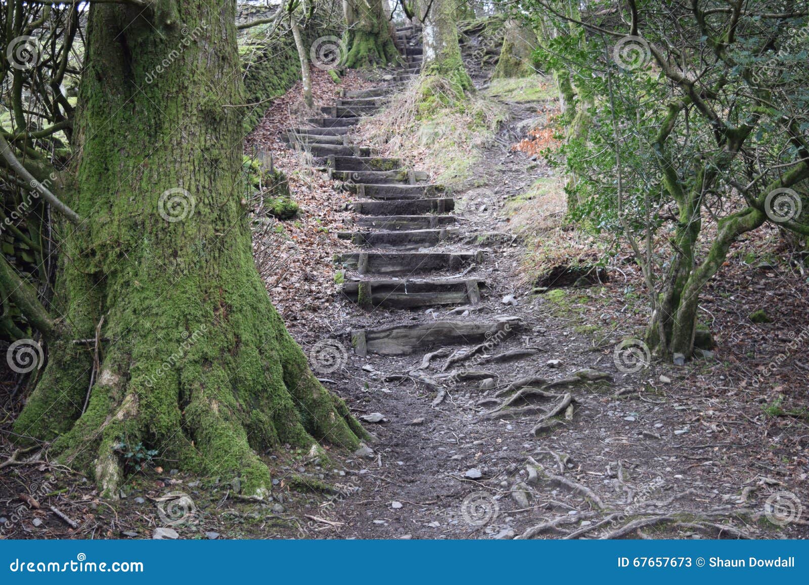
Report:
[[346,67],[363,69],[398,62],[399,51],[393,43],[382,0],[349,0],[343,10],[348,26]]

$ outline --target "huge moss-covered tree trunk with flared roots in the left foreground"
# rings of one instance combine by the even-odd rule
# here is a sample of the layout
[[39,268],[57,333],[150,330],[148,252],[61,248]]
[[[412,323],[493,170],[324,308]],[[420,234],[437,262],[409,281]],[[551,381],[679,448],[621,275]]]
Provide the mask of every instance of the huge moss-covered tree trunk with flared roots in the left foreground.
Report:
[[[15,422],[114,496],[116,445],[270,489],[256,455],[362,428],[307,366],[252,260],[234,3],[93,4],[49,363]],[[149,81],[150,79],[150,81]],[[92,352],[72,340],[96,337]]]

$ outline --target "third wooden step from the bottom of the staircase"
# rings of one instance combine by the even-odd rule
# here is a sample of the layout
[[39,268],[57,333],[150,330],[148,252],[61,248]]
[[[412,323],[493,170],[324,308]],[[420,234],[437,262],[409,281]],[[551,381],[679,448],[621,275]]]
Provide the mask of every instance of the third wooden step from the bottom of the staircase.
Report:
[[463,270],[481,264],[481,252],[354,252],[335,258],[335,263],[360,274],[416,274],[442,270]]

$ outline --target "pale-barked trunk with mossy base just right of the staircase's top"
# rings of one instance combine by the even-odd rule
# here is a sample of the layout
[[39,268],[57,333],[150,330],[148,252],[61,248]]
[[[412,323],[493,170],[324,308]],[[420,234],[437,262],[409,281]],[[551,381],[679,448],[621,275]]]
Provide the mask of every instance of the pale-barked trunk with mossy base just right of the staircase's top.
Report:
[[456,8],[454,0],[434,0],[430,6],[422,32],[422,75],[443,78],[456,91],[472,91],[472,79],[460,55]]

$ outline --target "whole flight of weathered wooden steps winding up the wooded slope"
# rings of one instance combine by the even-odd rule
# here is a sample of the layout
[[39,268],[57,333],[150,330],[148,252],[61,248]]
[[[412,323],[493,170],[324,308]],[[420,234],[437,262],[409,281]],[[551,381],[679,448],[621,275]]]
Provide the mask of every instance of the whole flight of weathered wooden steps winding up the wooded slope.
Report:
[[[442,185],[431,184],[426,173],[349,142],[351,127],[382,108],[388,96],[400,91],[421,70],[420,29],[396,29],[396,45],[404,64],[387,76],[386,85],[344,90],[334,104],[322,108],[323,117],[307,120],[308,128],[290,129],[286,141],[319,159],[316,166],[328,169],[332,179],[342,181],[354,194],[350,204],[355,214],[354,231],[338,234],[357,248],[337,258],[347,271],[342,286],[346,299],[369,311],[375,307],[424,311],[456,305],[460,314],[485,295],[485,279],[475,277],[485,252],[473,244],[464,245],[470,241],[469,234],[453,214],[455,199]],[[430,345],[481,342],[498,332],[505,336],[518,321],[495,318],[485,322],[393,324],[355,330],[351,343],[360,356],[410,354]]]

